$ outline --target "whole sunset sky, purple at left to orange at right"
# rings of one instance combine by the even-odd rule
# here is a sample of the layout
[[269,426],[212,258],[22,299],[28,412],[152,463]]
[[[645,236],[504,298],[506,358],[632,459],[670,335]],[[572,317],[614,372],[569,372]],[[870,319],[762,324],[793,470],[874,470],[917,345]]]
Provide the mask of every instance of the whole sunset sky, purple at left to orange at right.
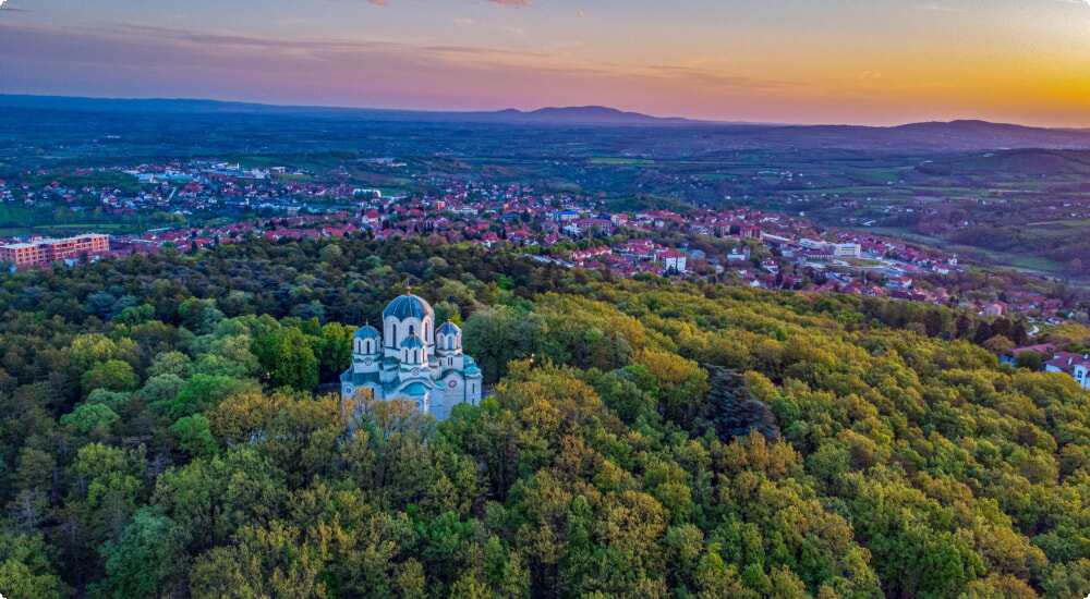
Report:
[[0,94],[1090,127],[1090,0],[0,0]]

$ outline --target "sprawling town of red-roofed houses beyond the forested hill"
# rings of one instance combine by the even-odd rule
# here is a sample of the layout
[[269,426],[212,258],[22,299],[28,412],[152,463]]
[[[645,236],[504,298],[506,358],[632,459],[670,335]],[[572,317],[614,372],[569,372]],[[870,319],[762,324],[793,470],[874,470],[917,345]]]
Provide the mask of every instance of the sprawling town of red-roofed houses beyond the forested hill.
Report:
[[[403,166],[393,158],[368,161],[391,169]],[[889,297],[958,306],[982,316],[1024,315],[1045,323],[1087,320],[1071,298],[1050,297],[1033,285],[991,289],[986,274],[959,264],[955,255],[753,208],[628,211],[610,208],[610,198],[601,194],[540,193],[530,185],[440,178],[419,181],[420,187],[435,190],[432,193],[384,193],[304,181],[308,173],[290,167],[250,169],[213,160],[80,169],[75,179],[102,172],[131,175],[137,191],[126,196],[116,186],[50,181],[33,188],[0,182],[0,198],[32,208],[60,203],[73,211],[155,215],[171,225],[110,235],[108,243],[105,235],[20,236],[4,240],[9,243],[0,247],[0,260],[27,269],[167,246],[196,252],[250,237],[420,235],[427,243],[468,243],[620,277],[647,273]],[[252,218],[231,218],[244,210]],[[190,224],[191,219],[204,222]]]

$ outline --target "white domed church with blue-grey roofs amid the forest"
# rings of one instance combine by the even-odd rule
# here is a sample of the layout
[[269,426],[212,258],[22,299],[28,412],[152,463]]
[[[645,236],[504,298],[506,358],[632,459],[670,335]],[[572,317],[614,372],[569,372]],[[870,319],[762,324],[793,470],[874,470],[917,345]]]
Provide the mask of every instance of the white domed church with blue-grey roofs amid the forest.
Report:
[[371,389],[376,400],[403,399],[440,420],[455,405],[481,402],[481,369],[462,353],[462,330],[435,327],[435,311],[407,293],[383,310],[383,331],[364,326],[352,339],[352,366],[341,375],[341,393]]

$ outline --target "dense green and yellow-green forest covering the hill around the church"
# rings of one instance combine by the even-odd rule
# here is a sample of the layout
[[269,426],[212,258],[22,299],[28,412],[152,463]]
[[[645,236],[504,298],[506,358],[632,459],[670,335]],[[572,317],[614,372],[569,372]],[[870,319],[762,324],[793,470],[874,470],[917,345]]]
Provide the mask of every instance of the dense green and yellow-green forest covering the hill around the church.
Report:
[[[323,392],[407,284],[495,383],[446,421]],[[1019,323],[367,239],[0,305],[9,599],[1090,592],[1090,395]]]

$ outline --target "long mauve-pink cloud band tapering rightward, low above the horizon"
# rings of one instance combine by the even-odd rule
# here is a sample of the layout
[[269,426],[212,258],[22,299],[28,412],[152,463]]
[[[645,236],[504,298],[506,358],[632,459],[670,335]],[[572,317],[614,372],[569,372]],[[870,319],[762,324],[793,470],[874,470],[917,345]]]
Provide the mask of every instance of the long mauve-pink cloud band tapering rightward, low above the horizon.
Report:
[[729,103],[800,85],[726,69],[610,63],[561,47],[284,39],[142,23],[66,27],[0,20],[0,56],[5,72],[0,93],[295,105],[637,108],[631,98],[640,97],[647,100],[641,105],[645,111],[671,112],[680,106],[679,91]]

